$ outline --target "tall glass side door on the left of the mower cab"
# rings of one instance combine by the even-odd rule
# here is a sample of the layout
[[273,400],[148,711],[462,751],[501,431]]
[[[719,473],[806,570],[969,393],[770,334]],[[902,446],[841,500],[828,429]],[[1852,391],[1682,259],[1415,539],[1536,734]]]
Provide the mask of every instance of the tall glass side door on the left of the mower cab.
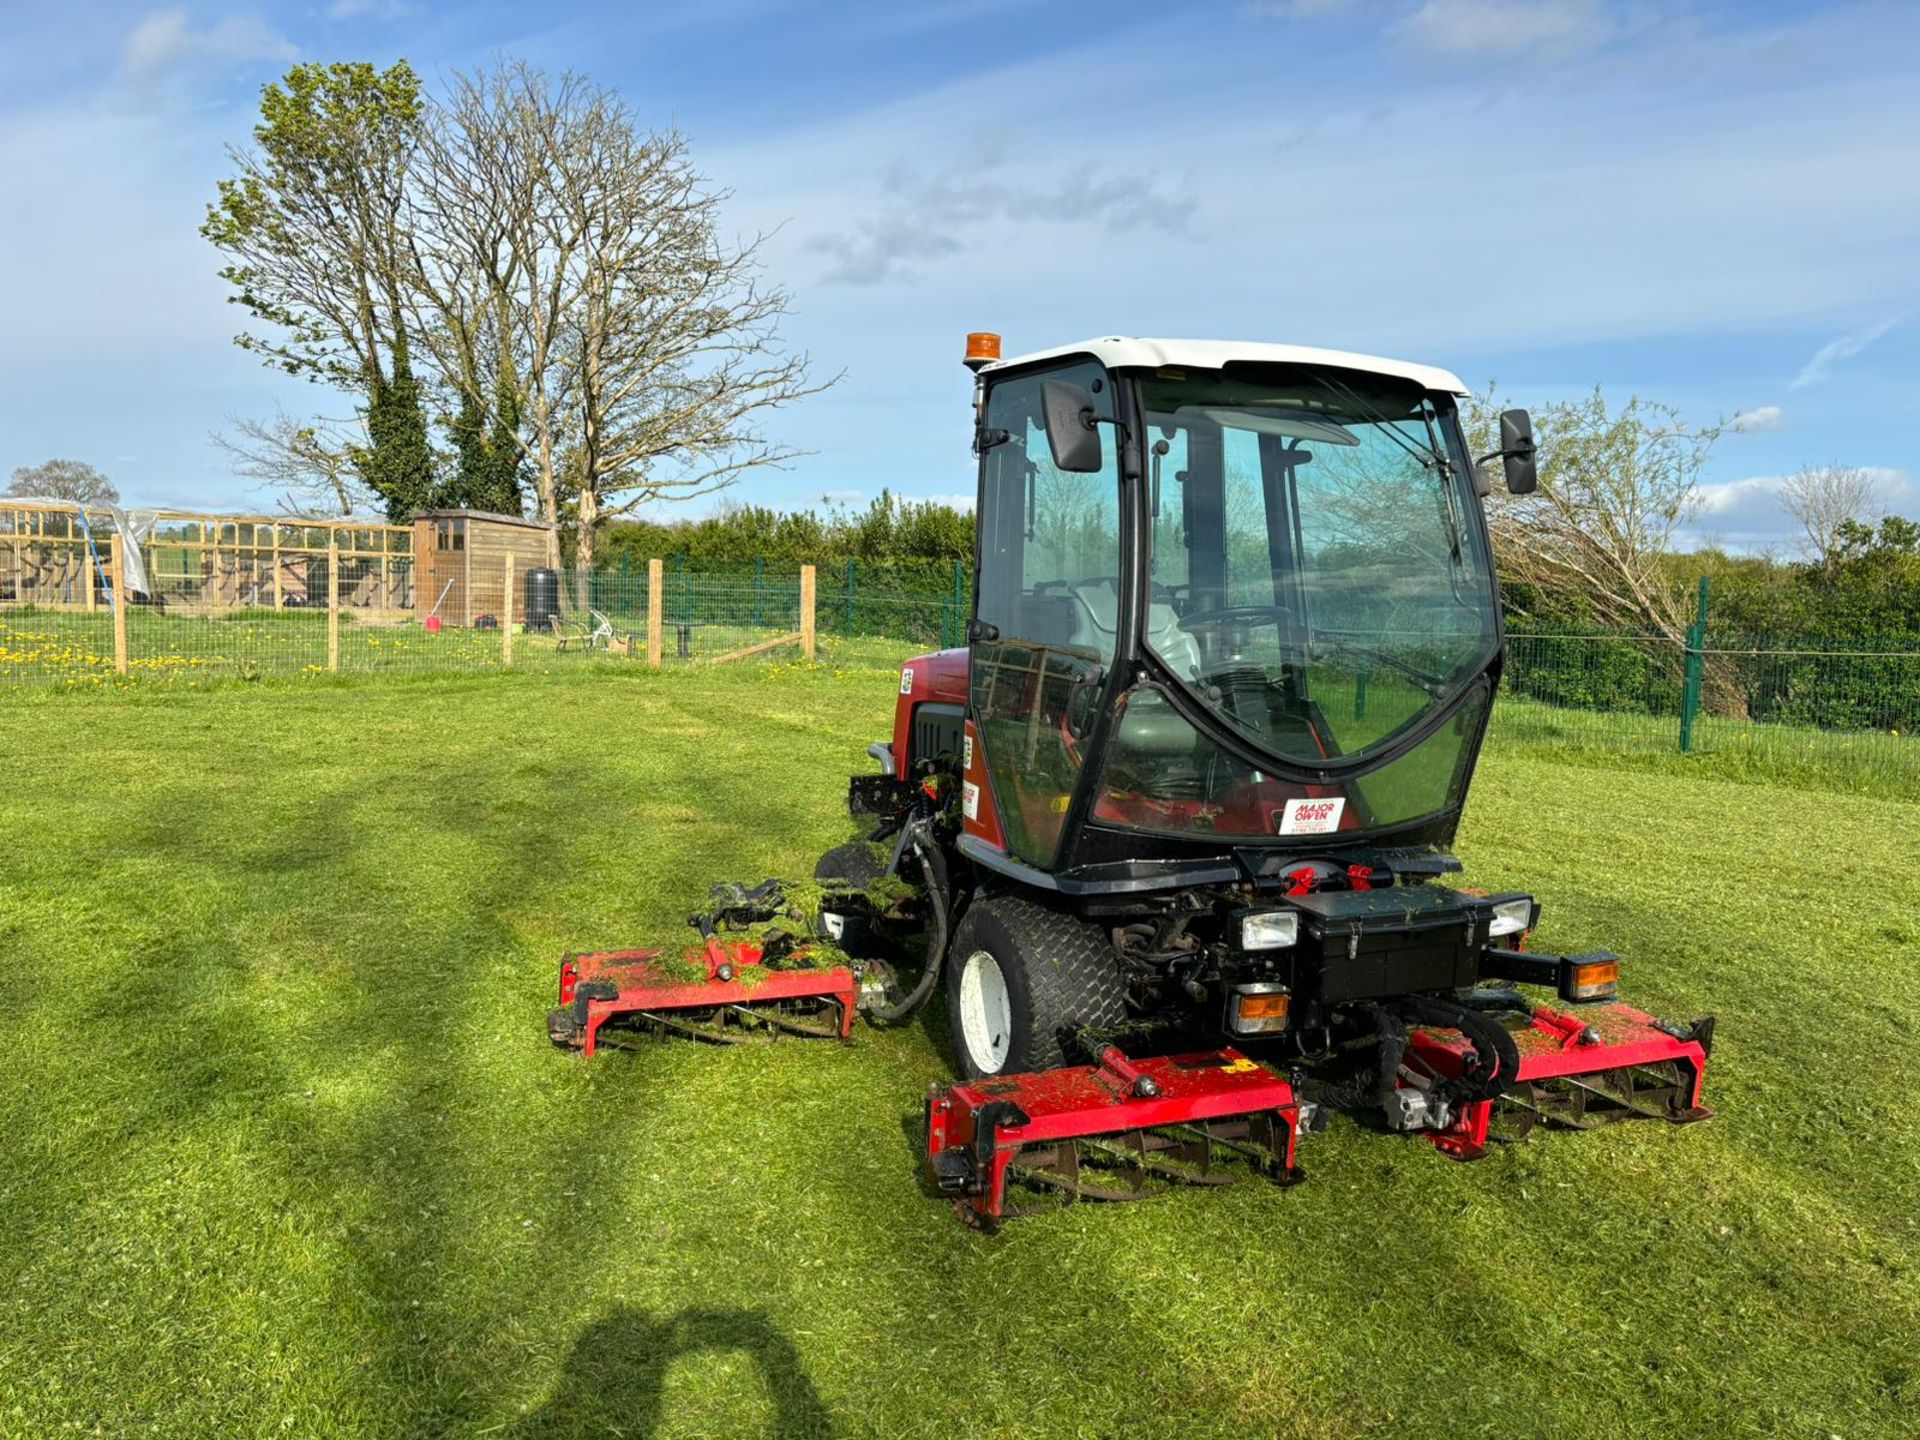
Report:
[[1041,384],[1085,386],[1114,415],[1114,382],[1092,361],[1012,376],[987,392],[979,488],[979,586],[970,685],[987,774],[1012,852],[1052,866],[1079,783],[1085,737],[1119,624],[1119,465],[1058,470]]

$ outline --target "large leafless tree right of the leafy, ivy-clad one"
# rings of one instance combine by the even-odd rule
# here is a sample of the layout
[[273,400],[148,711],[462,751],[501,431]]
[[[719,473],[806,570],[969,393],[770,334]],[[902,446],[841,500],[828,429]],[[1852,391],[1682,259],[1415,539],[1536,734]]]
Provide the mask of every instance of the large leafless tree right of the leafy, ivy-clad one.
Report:
[[511,390],[541,518],[572,501],[582,570],[609,516],[791,459],[760,420],[824,388],[780,349],[787,294],[758,282],[758,240],[720,238],[724,200],[684,136],[578,75],[457,77],[430,127],[422,328],[455,386]]

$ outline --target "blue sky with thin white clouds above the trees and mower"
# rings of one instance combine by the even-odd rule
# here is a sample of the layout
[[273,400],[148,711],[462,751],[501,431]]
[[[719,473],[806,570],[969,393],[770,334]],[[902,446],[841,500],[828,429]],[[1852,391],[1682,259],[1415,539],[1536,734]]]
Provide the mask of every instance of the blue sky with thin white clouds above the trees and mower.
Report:
[[1718,447],[1695,538],[1872,467],[1920,515],[1920,6],[1636,0],[186,6],[0,0],[0,470],[261,507],[207,432],[338,413],[230,344],[196,236],[292,60],[520,56],[682,127],[770,232],[812,451],[733,493],[972,488],[968,330],[1290,340],[1596,382]]

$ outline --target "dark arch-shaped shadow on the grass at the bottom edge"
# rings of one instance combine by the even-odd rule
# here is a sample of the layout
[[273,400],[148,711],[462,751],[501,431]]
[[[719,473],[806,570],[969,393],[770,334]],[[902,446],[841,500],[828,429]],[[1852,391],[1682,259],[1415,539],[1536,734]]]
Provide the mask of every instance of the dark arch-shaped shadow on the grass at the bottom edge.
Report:
[[653,1319],[624,1306],[580,1332],[553,1398],[509,1434],[515,1440],[657,1434],[668,1369],[682,1356],[699,1354],[739,1354],[758,1365],[774,1407],[768,1434],[781,1440],[833,1434],[833,1419],[799,1352],[764,1311],[693,1308]]

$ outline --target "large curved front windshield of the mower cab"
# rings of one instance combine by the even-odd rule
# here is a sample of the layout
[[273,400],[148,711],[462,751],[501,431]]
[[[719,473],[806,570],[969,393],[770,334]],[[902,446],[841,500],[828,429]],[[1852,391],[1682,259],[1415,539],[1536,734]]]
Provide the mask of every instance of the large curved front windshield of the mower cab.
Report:
[[1452,397],[1350,371],[1140,380],[1146,643],[1283,760],[1352,758],[1459,695],[1498,597]]

